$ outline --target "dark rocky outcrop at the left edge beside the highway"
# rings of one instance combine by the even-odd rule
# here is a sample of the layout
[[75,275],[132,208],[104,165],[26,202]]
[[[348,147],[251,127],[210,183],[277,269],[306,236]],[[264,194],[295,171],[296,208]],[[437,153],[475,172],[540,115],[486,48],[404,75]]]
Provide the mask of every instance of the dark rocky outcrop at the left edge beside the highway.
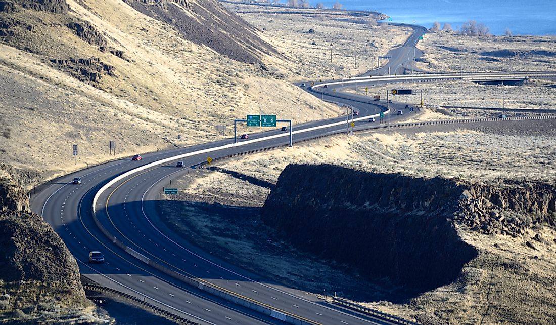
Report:
[[[25,191],[0,175],[0,279],[2,283],[40,283],[41,292],[59,303],[88,304],[75,258],[62,239],[29,211]],[[1,288],[0,288],[1,289]],[[14,297],[17,298],[17,297]],[[44,297],[42,297],[44,298]],[[32,303],[37,297],[21,297]]]

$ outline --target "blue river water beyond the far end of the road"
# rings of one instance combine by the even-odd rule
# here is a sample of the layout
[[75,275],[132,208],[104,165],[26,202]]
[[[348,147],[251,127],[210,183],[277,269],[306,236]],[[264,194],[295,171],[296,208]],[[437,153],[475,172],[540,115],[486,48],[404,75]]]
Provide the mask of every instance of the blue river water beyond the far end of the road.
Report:
[[[336,0],[312,0],[330,8]],[[493,35],[556,35],[556,0],[338,0],[344,9],[387,14],[393,22],[430,28],[435,21],[455,29],[473,19]]]

